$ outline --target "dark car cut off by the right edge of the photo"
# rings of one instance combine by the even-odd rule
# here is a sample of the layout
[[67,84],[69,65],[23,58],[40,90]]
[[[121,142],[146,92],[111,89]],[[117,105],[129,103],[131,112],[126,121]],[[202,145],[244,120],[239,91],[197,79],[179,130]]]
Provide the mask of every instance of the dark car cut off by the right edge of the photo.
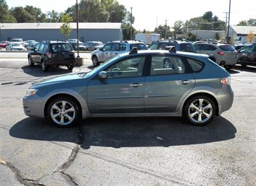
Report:
[[256,66],[256,43],[238,50],[237,64],[241,64],[243,67],[247,65]]

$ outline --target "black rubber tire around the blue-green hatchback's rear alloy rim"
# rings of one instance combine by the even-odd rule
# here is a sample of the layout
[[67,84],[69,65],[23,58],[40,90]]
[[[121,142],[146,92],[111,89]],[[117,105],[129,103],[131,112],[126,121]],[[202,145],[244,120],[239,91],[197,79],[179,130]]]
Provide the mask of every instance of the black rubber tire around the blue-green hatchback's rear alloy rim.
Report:
[[[208,118],[208,117],[206,117],[206,115],[204,115],[204,113],[202,113],[203,109],[200,108],[199,104],[196,104],[197,100],[198,100],[198,103],[199,103],[199,99],[204,100],[202,102],[202,108],[204,108],[206,105],[208,105],[208,103],[211,104],[212,110],[211,110],[211,108],[208,108],[207,110],[206,109],[204,110],[205,113],[207,113],[207,114],[211,113],[211,117]],[[201,116],[200,118],[201,118],[202,122],[198,122],[199,114],[196,113],[197,110],[193,111],[193,108],[189,107],[189,106],[191,106],[191,103],[195,103],[194,105],[196,107],[198,106],[198,108],[200,108],[200,110],[198,110],[198,113],[200,113],[200,116]],[[190,113],[190,115],[193,115],[193,113],[196,113],[194,115],[194,118],[189,117],[189,112],[190,111],[192,112],[192,113]],[[191,98],[188,99],[188,101],[186,101],[186,104],[184,105],[183,117],[185,117],[186,120],[191,122],[191,124],[193,124],[193,125],[202,126],[202,125],[209,124],[209,122],[211,122],[213,120],[215,115],[216,115],[216,105],[215,105],[214,101],[211,99],[211,97],[208,97],[208,96],[194,96],[194,97],[191,97]],[[195,120],[197,120],[197,122],[195,122]]]

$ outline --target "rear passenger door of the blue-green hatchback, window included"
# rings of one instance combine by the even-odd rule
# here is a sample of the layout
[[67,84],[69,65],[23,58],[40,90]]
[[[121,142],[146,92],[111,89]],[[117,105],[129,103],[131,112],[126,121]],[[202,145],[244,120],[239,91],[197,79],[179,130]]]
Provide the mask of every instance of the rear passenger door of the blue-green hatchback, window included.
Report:
[[176,55],[152,55],[150,74],[145,80],[145,112],[173,113],[193,89],[195,79]]

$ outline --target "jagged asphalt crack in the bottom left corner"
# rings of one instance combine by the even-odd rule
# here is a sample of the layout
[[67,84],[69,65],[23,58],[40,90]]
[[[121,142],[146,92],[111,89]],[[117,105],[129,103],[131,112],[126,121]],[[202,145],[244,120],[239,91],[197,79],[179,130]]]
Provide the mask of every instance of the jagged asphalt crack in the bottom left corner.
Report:
[[12,163],[6,162],[6,161],[3,161],[2,159],[0,159],[0,164],[2,164],[3,166],[6,166],[9,169],[11,169],[11,171],[13,173],[15,173],[15,178],[17,179],[17,181],[22,183],[23,185],[28,185],[28,186],[45,186],[43,183],[39,183],[39,180],[42,177],[44,177],[45,175],[42,176],[41,178],[39,178],[38,180],[27,179],[27,178],[24,178],[21,175],[20,170],[15,168],[15,166],[13,166]]

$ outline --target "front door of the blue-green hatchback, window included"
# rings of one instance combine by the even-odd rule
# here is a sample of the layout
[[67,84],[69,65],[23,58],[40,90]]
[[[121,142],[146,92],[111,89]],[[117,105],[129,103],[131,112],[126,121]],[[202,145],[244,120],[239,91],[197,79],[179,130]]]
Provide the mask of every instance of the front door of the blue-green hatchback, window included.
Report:
[[87,100],[90,113],[143,113],[143,68],[146,56],[122,59],[104,71],[106,79],[95,76],[88,83]]

